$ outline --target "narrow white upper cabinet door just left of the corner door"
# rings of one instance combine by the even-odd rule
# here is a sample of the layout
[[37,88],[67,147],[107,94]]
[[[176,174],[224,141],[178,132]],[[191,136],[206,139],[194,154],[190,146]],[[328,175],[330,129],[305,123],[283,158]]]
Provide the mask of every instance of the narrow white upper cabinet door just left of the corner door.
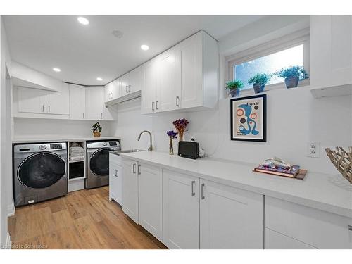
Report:
[[84,119],[86,112],[86,88],[70,84],[70,119]]

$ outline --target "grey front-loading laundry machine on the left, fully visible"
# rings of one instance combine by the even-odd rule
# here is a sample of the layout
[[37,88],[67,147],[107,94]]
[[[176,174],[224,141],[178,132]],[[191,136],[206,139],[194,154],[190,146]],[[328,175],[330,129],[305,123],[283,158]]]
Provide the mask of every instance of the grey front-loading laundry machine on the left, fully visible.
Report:
[[63,196],[68,192],[67,144],[13,146],[13,196],[24,206]]

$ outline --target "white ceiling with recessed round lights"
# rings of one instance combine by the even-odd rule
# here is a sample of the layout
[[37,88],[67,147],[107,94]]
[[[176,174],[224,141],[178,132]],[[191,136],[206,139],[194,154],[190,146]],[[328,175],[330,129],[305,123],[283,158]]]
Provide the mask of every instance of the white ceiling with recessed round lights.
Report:
[[[106,84],[198,30],[221,39],[262,18],[233,16],[4,16],[14,61],[65,82]],[[118,39],[111,32],[120,30]],[[142,51],[141,44],[149,45]],[[52,68],[61,68],[55,73]],[[99,82],[96,77],[102,77]]]

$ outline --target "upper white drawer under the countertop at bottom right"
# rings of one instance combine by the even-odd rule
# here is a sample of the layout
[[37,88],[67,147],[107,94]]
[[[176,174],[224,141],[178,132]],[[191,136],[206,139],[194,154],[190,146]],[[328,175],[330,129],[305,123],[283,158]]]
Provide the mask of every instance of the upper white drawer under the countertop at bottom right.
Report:
[[352,219],[265,196],[265,227],[318,249],[352,249]]

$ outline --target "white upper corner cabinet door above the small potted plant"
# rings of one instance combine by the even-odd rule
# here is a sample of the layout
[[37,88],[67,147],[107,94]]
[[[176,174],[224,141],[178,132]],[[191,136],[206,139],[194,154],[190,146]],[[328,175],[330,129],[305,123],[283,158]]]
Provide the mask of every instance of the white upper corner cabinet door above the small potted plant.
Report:
[[104,112],[104,92],[102,87],[86,88],[86,119],[102,120]]

